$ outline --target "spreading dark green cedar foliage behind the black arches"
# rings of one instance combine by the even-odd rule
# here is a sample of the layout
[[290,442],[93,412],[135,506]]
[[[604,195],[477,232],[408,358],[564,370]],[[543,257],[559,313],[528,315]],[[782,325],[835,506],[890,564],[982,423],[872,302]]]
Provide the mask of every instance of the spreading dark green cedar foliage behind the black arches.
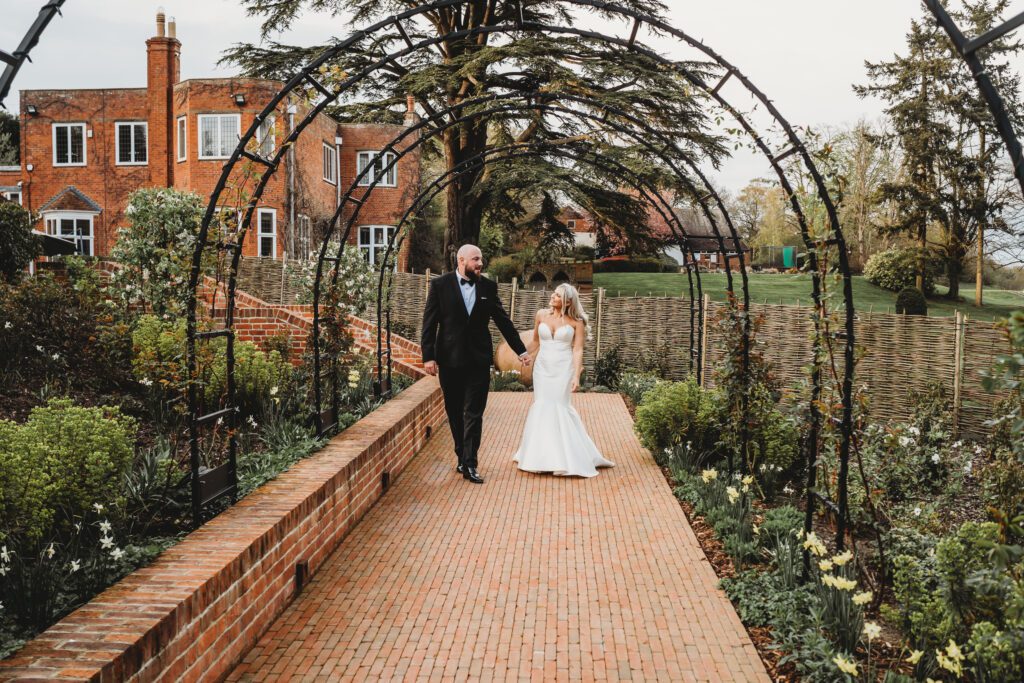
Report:
[[[366,26],[418,4],[410,0],[245,1],[250,14],[263,17],[264,39],[287,29],[306,11],[345,15],[342,26]],[[657,0],[624,0],[623,4],[654,15],[665,10]],[[592,11],[610,18],[602,10]],[[520,16],[528,23],[556,26],[571,26],[574,19],[571,4],[559,0],[467,0],[409,19],[406,30],[417,42],[439,39],[453,31],[507,26]],[[624,24],[626,29],[628,25]],[[282,78],[291,76],[324,47],[296,47],[266,40],[260,46],[237,45],[224,59],[242,67],[247,75]],[[325,65],[319,78],[338,84],[380,59],[382,52],[404,47],[395,29],[368,36],[335,63]],[[707,65],[679,63],[699,76],[714,78]],[[693,158],[715,161],[724,154],[719,139],[709,132],[708,118],[682,75],[664,68],[645,55],[644,50],[623,49],[568,34],[478,32],[444,38],[435,46],[390,60],[358,85],[345,90],[334,114],[345,121],[395,122],[400,116],[395,110],[403,109],[408,93],[415,96],[423,112],[432,116],[484,95],[537,91],[543,92],[532,98],[538,104],[561,104],[603,117],[605,121],[617,119],[607,105],[622,108],[664,131],[678,141],[682,154]],[[594,98],[598,103],[575,102],[566,98],[569,95]],[[626,164],[659,185],[671,182],[666,169],[651,160],[647,147],[633,140],[624,141],[606,126],[577,117],[537,109],[484,114],[482,109],[473,105],[463,111],[470,118],[443,132],[436,126],[425,131],[437,133],[433,152],[443,159],[444,171],[499,146],[544,144],[546,147],[541,156],[518,154],[524,146],[496,153],[486,165],[469,167],[447,186],[444,253],[450,267],[459,245],[479,241],[484,220],[512,225],[525,217],[524,207],[544,191],[561,193],[594,216],[598,224],[644,242],[646,208],[624,188],[622,173],[577,164],[552,152],[597,153]],[[678,189],[680,195],[685,191]]]

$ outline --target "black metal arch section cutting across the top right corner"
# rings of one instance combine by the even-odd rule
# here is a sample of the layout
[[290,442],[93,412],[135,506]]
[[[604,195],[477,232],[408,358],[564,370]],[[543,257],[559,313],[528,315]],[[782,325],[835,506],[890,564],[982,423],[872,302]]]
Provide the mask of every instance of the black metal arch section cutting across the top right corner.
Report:
[[1021,193],[1024,194],[1024,154],[1021,152],[1021,143],[1017,139],[1017,133],[1014,131],[1014,125],[1010,121],[1010,115],[1007,114],[1007,105],[1004,103],[995,84],[992,83],[992,79],[988,76],[985,62],[978,55],[986,45],[990,45],[992,42],[1024,26],[1024,12],[1004,22],[982,36],[968,38],[961,31],[959,27],[956,26],[953,18],[949,16],[949,12],[945,10],[945,7],[942,6],[939,0],[925,0],[925,5],[935,16],[942,30],[949,36],[953,46],[956,48],[957,54],[971,68],[971,75],[974,76],[975,83],[978,84],[978,90],[981,92],[985,104],[988,105],[988,111],[995,120],[995,127],[999,131],[999,137],[1002,138],[1002,143],[1007,145],[1007,152],[1010,154],[1010,160],[1013,162],[1014,175],[1017,177],[1018,184],[1020,184]]

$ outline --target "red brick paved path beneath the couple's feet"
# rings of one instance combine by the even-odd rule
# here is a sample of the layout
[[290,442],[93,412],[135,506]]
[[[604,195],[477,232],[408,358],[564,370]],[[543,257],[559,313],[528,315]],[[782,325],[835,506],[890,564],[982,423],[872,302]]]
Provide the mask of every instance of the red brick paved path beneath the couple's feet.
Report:
[[767,681],[622,398],[574,398],[593,479],[516,470],[529,400],[492,394],[482,486],[442,428],[228,680]]

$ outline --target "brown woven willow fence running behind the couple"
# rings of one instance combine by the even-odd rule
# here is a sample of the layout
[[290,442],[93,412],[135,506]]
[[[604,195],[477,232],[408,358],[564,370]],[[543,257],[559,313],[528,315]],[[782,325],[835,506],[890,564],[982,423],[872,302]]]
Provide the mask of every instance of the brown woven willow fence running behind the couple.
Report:
[[[257,263],[251,263],[257,261]],[[282,278],[280,261],[246,259],[239,287],[270,303],[291,303],[295,292]],[[428,275],[396,273],[392,293],[392,322],[417,338],[421,331]],[[534,314],[547,306],[549,292],[518,289],[500,284],[505,309],[520,330],[532,327]],[[288,300],[291,297],[291,300]],[[675,297],[605,297],[600,290],[582,296],[590,314],[592,338],[587,344],[585,365],[593,373],[597,357],[617,346],[627,367],[658,362],[671,379],[690,373],[690,302]],[[715,369],[721,364],[727,340],[715,325],[721,302],[707,301],[707,330],[701,340],[703,376],[714,385]],[[752,304],[762,318],[757,343],[771,364],[779,385],[793,397],[807,383],[811,361],[811,309],[804,306]],[[699,329],[699,327],[697,327]],[[501,337],[492,326],[495,343]],[[991,323],[953,317],[924,317],[890,313],[857,313],[857,346],[861,349],[855,383],[868,396],[876,420],[909,417],[908,395],[941,382],[953,400],[961,432],[981,436],[985,421],[1000,396],[987,392],[981,372],[995,356],[1008,350],[1006,338]]]

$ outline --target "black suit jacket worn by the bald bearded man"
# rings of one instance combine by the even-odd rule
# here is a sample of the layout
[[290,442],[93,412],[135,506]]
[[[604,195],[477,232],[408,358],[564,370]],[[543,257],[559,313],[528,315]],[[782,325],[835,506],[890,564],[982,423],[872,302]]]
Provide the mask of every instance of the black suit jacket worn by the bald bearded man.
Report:
[[459,287],[458,272],[447,272],[430,283],[427,305],[423,309],[423,361],[436,360],[444,368],[489,368],[494,346],[487,327],[495,322],[512,349],[526,352],[519,332],[509,319],[498,285],[486,278],[476,283],[476,303],[473,312],[466,312],[466,303]]

